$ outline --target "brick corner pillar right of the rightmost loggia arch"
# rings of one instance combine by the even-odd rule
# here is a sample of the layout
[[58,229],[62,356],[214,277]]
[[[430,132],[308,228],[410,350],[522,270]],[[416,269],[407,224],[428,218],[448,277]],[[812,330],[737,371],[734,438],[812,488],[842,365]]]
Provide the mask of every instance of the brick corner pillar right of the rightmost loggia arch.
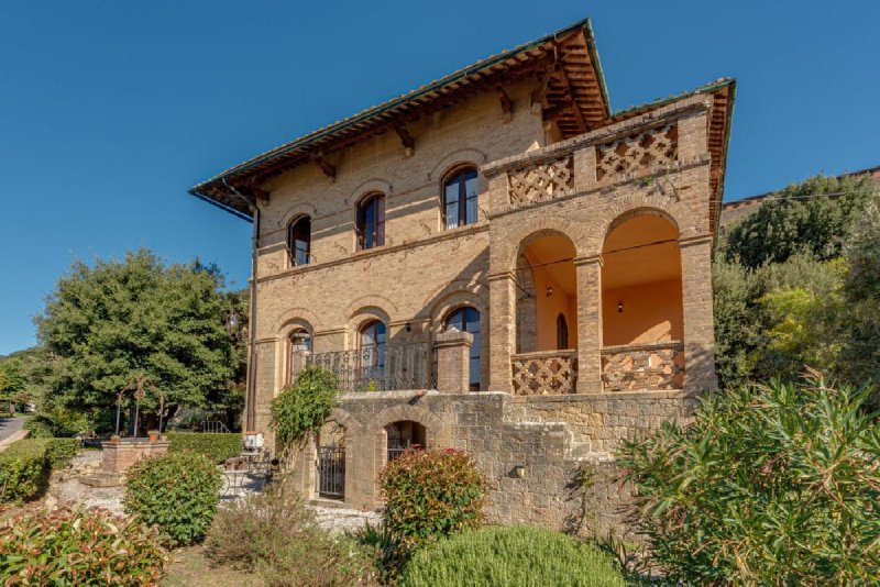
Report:
[[679,240],[684,333],[684,390],[715,389],[715,326],[712,310],[712,235]]

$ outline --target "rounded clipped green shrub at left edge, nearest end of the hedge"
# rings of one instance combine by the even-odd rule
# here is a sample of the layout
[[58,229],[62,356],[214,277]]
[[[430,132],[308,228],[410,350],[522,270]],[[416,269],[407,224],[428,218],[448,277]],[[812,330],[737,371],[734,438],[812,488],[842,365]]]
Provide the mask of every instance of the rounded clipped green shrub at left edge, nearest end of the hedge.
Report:
[[0,453],[0,502],[40,494],[48,479],[46,439],[15,441]]

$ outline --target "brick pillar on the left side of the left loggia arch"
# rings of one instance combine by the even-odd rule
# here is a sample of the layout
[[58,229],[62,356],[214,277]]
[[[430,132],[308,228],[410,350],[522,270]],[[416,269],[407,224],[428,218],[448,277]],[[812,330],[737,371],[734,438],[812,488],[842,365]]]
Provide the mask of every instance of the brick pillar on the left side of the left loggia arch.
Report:
[[488,388],[512,392],[510,354],[516,333],[516,286],[510,272],[488,277],[490,350]]

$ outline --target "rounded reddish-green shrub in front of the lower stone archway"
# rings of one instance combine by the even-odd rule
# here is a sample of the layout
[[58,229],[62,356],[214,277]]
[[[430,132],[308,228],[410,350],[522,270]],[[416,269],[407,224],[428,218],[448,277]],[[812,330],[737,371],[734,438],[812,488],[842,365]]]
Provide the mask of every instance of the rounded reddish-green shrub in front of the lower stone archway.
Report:
[[406,547],[483,522],[485,479],[453,448],[407,451],[386,465],[380,485],[385,527]]

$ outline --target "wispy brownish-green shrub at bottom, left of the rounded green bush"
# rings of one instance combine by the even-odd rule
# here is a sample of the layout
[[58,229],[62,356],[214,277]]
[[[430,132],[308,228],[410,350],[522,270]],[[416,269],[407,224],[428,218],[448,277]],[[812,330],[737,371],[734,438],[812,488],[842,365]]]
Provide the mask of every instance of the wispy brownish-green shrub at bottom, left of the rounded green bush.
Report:
[[216,564],[256,573],[264,584],[373,585],[373,550],[330,536],[288,478],[217,513],[206,540]]

